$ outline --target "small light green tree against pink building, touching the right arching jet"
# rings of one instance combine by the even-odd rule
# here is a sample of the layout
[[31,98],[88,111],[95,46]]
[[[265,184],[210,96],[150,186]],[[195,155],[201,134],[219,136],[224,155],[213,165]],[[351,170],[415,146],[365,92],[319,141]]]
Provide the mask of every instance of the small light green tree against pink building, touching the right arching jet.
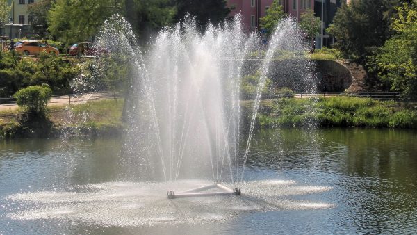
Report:
[[277,0],[274,0],[270,8],[268,8],[265,17],[259,19],[261,29],[265,30],[268,36],[272,35],[275,26],[277,26],[278,22],[284,17],[286,17],[286,13],[284,13],[282,5],[279,4]]

